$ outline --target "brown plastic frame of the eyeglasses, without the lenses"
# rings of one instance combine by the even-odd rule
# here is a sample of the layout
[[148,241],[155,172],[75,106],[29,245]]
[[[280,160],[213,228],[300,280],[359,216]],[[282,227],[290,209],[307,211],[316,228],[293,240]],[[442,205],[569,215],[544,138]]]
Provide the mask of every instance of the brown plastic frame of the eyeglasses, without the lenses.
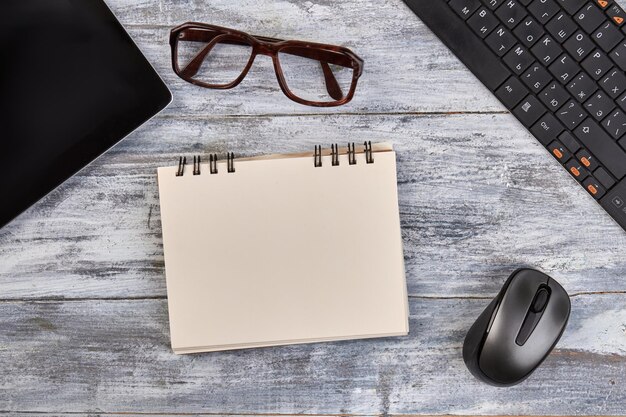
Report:
[[[207,42],[207,45],[199,51],[183,69],[179,67],[177,59],[179,40]],[[197,74],[202,62],[218,42],[235,45],[250,45],[252,47],[250,59],[248,60],[248,63],[242,73],[237,79],[228,84],[209,84],[194,79],[193,77]],[[352,100],[358,79],[363,73],[363,60],[354,52],[342,46],[295,40],[285,41],[281,39],[268,38],[266,36],[253,36],[238,30],[208,25],[205,23],[187,22],[175,27],[170,32],[170,46],[172,48],[172,68],[174,69],[176,75],[191,84],[213,89],[229,89],[236,87],[246,77],[248,71],[250,71],[257,55],[269,56],[272,58],[278,85],[283,93],[291,100],[307,106],[333,107],[348,103]],[[289,52],[285,52],[285,50],[289,50]],[[302,56],[319,61],[324,73],[326,89],[330,97],[335,99],[335,101],[310,101],[300,98],[296,94],[292,93],[287,85],[287,81],[285,80],[285,76],[280,65],[278,53],[281,51],[283,53],[289,53],[291,55]],[[341,91],[341,87],[328,65],[329,62],[333,64],[337,63],[338,65],[353,69],[352,82],[350,84],[350,90],[347,94],[344,94]]]

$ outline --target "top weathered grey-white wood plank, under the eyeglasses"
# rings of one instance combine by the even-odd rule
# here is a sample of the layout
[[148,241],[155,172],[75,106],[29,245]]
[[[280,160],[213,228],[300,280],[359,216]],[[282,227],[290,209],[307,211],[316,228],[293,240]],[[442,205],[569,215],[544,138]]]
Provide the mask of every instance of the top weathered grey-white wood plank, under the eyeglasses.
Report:
[[[401,0],[302,2],[175,0],[109,4],[174,93],[165,114],[382,113],[503,111]],[[365,60],[354,100],[334,109],[299,105],[280,91],[271,61],[258,57],[248,77],[230,91],[207,90],[171,69],[169,31],[186,21],[253,34],[341,44]]]

